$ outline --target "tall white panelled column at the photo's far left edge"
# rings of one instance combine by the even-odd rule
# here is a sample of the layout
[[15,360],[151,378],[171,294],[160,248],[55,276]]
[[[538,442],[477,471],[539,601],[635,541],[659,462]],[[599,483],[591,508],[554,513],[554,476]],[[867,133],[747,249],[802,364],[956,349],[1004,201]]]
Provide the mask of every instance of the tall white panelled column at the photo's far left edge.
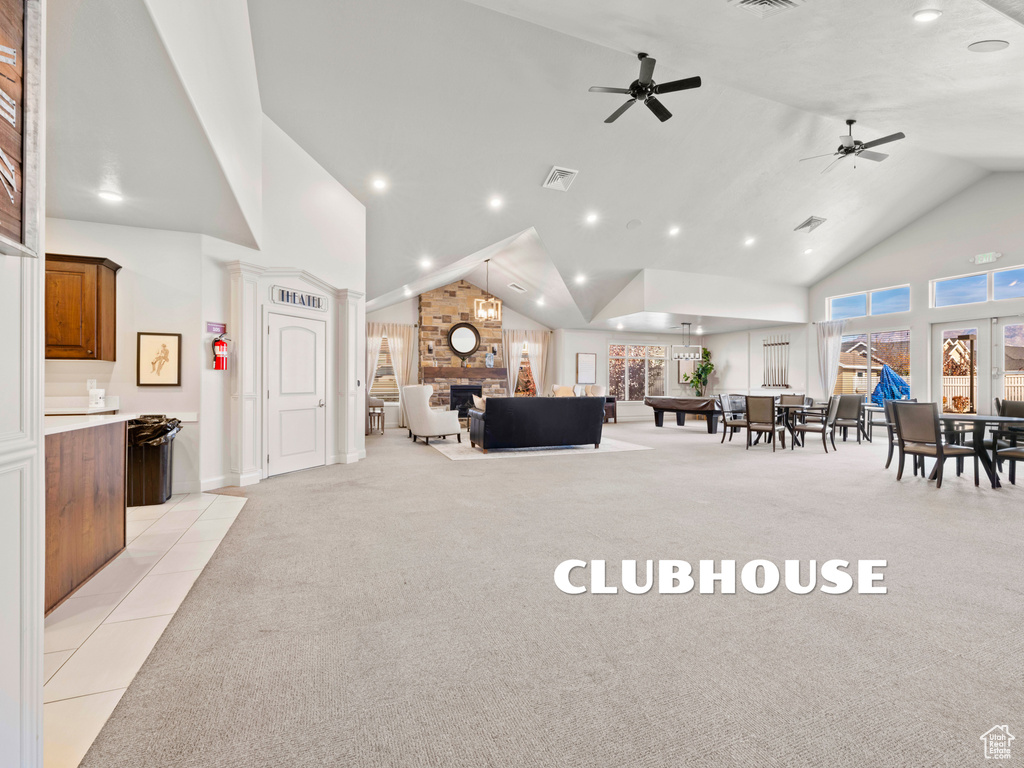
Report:
[[43,765],[45,5],[25,13],[24,242],[0,239],[0,763]]

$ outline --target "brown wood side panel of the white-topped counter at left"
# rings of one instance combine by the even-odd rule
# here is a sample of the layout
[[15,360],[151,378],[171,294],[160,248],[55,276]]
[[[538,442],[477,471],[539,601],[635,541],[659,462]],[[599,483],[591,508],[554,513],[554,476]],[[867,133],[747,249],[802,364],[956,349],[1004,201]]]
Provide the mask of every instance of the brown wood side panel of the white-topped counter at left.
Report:
[[125,548],[124,421],[46,435],[49,612]]

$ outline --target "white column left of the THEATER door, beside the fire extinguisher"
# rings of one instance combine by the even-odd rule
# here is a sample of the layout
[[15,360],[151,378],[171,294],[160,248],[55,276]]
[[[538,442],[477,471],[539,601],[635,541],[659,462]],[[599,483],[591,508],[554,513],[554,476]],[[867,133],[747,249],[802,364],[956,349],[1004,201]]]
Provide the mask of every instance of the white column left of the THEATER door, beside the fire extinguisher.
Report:
[[233,340],[227,358],[231,376],[227,481],[233,485],[252,485],[262,477],[259,275],[263,271],[243,261],[227,265],[231,278],[227,332]]

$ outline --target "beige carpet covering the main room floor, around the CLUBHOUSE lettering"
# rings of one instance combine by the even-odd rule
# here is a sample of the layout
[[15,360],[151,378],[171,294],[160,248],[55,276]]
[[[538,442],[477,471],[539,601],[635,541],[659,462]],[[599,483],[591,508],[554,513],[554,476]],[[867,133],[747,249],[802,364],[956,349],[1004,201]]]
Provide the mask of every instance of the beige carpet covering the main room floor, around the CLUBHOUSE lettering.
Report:
[[[655,450],[466,474],[389,430],[253,486],[84,765],[934,768],[986,765],[996,724],[1024,739],[1024,487],[703,424],[607,436]],[[552,580],[726,557],[885,558],[890,594]]]

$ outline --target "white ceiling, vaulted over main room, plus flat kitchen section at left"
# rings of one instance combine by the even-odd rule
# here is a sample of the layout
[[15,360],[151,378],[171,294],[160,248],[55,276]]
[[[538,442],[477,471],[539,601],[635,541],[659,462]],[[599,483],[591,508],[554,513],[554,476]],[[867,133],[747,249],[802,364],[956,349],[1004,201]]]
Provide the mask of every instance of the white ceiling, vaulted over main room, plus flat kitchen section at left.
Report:
[[[500,278],[496,293],[588,327],[642,270],[811,285],[986,173],[1024,169],[1015,6],[933,4],[930,25],[909,0],[806,0],[767,18],[736,0],[248,10],[263,112],[368,207],[370,299],[478,278],[489,255],[528,289],[511,296]],[[1011,45],[967,50],[991,38]],[[50,215],[255,245],[142,0],[54,0],[47,43]],[[703,86],[664,96],[666,123],[636,106],[606,125],[623,99],[588,88],[627,86],[640,50],[655,80]],[[863,140],[907,138],[883,163],[800,162],[831,152],[846,118]],[[542,188],[552,165],[580,171],[568,191]],[[111,175],[130,205],[96,199]],[[794,231],[811,215],[826,221]]]

